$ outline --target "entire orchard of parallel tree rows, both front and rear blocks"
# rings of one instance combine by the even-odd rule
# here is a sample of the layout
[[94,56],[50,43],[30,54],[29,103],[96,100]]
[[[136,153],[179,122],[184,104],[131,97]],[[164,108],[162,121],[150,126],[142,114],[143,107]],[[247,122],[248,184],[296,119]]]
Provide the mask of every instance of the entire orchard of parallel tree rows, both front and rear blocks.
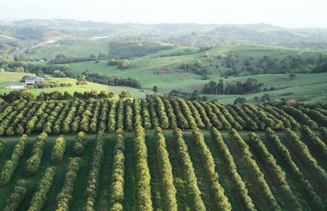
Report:
[[5,103],[0,115],[4,210],[327,206],[320,108],[158,97]]

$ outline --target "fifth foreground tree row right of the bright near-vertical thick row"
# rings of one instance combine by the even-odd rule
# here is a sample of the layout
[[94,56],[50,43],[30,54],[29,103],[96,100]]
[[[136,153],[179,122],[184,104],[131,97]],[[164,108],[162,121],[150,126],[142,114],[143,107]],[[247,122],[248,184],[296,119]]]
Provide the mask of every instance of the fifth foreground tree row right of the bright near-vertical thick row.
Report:
[[249,150],[249,146],[244,142],[242,137],[239,135],[239,133],[237,133],[235,129],[229,130],[229,137],[233,140],[233,142],[235,142],[235,144],[240,149],[244,162],[251,168],[251,170],[249,171],[252,174],[251,177],[255,178],[255,181],[262,190],[262,193],[266,198],[267,202],[269,203],[270,208],[273,210],[281,210],[272,191],[270,190],[268,184],[264,179],[263,173],[260,171],[260,168],[257,165],[256,161],[253,159],[252,153]]

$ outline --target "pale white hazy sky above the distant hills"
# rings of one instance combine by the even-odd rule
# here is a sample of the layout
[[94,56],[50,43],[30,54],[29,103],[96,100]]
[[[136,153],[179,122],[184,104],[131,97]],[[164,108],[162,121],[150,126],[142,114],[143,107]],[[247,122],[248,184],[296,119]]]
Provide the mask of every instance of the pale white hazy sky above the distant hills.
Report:
[[269,23],[327,28],[327,0],[0,0],[0,20],[65,18],[111,23]]

